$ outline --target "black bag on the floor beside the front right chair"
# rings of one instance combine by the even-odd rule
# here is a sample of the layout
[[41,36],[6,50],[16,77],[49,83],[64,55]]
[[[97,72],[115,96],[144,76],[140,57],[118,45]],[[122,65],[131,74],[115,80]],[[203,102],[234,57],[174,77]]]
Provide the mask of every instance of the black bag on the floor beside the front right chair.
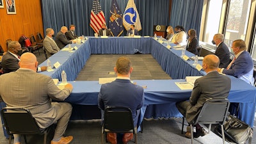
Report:
[[232,137],[236,143],[245,143],[248,138],[252,138],[253,129],[250,125],[239,120],[235,116],[228,115],[224,123],[225,135]]

